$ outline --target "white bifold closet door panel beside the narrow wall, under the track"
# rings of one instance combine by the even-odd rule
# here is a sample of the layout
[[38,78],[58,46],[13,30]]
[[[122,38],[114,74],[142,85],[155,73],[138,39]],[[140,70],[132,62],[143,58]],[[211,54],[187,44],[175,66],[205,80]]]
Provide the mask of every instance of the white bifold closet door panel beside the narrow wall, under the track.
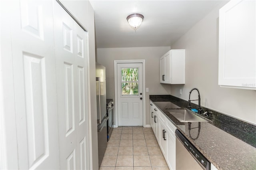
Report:
[[54,1],[60,169],[89,169],[87,32]]

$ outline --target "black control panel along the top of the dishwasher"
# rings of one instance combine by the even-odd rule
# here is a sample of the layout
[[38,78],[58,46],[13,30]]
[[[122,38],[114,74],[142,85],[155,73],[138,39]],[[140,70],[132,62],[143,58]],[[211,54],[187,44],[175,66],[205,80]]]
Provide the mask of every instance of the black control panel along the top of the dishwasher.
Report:
[[210,162],[200,153],[200,151],[190,142],[188,139],[176,129],[175,134],[177,138],[182,142],[185,148],[190,152],[198,164],[205,170],[210,169]]

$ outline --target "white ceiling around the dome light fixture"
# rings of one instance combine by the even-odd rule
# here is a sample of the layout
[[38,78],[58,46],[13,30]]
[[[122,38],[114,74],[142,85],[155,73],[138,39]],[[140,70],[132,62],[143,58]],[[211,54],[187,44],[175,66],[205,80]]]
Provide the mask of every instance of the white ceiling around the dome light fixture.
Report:
[[[90,0],[95,13],[96,48],[170,46],[218,0]],[[126,17],[144,15],[136,32]]]

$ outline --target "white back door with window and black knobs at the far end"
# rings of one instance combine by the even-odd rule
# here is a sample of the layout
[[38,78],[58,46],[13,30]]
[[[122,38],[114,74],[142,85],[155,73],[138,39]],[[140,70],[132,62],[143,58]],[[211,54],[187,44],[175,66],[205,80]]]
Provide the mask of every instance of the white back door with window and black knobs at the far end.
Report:
[[142,63],[118,63],[118,126],[143,126]]

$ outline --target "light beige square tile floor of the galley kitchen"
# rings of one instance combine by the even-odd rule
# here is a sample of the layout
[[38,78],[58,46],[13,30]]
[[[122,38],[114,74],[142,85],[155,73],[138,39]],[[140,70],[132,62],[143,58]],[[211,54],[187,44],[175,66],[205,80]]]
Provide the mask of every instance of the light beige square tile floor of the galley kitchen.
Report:
[[169,170],[152,128],[114,128],[100,170]]

